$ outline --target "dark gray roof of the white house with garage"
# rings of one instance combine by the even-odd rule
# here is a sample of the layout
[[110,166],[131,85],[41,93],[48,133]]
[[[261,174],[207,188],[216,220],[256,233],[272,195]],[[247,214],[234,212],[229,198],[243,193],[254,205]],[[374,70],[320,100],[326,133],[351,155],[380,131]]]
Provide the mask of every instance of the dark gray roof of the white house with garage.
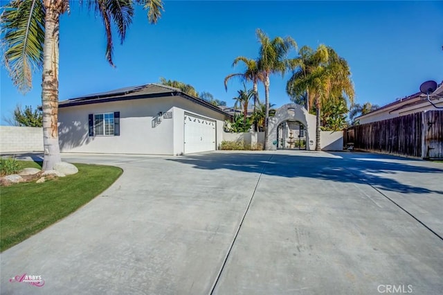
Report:
[[169,87],[161,84],[144,84],[133,87],[125,87],[111,91],[105,91],[100,93],[88,94],[86,96],[80,96],[78,98],[71,98],[69,100],[62,100],[58,103],[59,107],[73,107],[75,105],[91,105],[93,103],[111,102],[119,100],[133,100],[141,98],[161,98],[165,96],[181,96],[192,102],[195,102],[208,109],[213,109],[221,114],[230,116],[226,111],[219,109],[215,105],[211,105],[209,102],[196,98],[184,93],[180,89]]

